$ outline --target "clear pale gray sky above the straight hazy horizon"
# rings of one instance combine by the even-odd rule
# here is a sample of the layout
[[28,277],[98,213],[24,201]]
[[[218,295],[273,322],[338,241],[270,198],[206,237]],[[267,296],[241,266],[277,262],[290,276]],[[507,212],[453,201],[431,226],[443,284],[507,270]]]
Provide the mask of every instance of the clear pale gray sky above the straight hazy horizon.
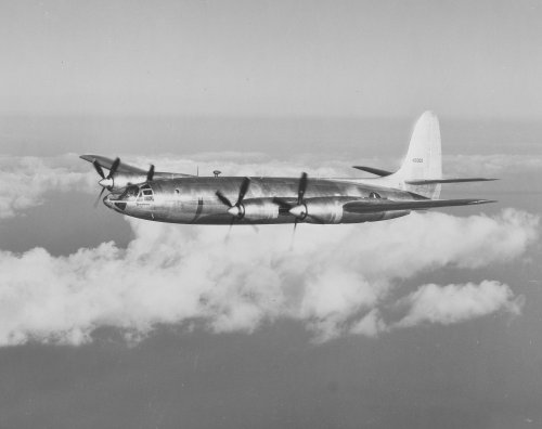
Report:
[[0,112],[542,115],[538,1],[4,1]]

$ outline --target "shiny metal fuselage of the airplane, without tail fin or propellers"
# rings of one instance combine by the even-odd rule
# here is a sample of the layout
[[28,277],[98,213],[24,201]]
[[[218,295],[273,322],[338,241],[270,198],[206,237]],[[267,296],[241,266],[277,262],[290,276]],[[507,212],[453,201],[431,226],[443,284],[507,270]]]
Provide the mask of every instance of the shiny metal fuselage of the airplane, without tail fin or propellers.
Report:
[[[349,202],[386,198],[393,200],[423,199],[406,191],[388,188],[343,179],[310,179],[304,205],[313,217],[299,219],[278,204],[275,198],[291,202],[298,199],[298,178],[251,177],[244,196],[243,214],[232,217],[229,207],[217,197],[217,192],[234,204],[245,178],[177,178],[155,180],[131,185],[122,194],[109,194],[104,204],[126,216],[171,223],[192,224],[271,224],[271,223],[358,223],[374,222],[408,214],[408,210],[356,213],[344,209]],[[317,217],[318,213],[318,217]],[[235,219],[232,219],[235,218]],[[317,220],[315,220],[317,219]]]

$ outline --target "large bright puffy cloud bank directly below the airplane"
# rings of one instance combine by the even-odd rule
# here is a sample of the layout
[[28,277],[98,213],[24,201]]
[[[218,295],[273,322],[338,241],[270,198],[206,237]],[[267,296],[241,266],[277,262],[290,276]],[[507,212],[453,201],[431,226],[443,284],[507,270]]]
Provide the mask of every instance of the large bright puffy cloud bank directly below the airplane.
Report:
[[[134,238],[53,257],[36,248],[0,251],[0,344],[77,344],[112,326],[134,337],[159,324],[251,333],[278,318],[299,321],[315,341],[375,336],[420,323],[517,313],[512,288],[425,285],[404,280],[443,266],[475,269],[520,257],[538,218],[516,210],[456,218],[429,212],[358,225],[220,226],[129,220]],[[462,239],[457,239],[462,237]],[[400,321],[384,310],[400,306]]]

